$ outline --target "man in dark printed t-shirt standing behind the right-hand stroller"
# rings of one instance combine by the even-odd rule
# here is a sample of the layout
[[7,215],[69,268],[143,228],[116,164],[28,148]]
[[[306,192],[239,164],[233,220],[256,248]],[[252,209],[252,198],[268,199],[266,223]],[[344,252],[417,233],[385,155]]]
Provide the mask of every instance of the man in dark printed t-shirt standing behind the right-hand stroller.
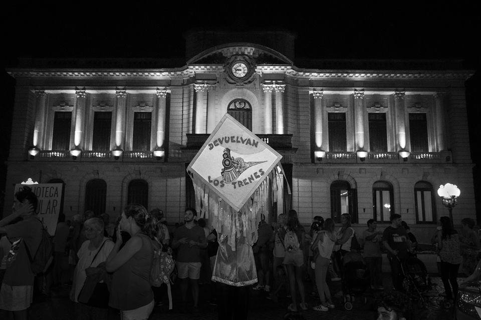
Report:
[[402,290],[402,270],[401,263],[407,258],[410,251],[410,242],[407,238],[407,232],[402,227],[401,216],[399,214],[391,215],[391,225],[389,225],[382,234],[382,243],[387,249],[387,257],[391,264],[392,283],[396,290]]

